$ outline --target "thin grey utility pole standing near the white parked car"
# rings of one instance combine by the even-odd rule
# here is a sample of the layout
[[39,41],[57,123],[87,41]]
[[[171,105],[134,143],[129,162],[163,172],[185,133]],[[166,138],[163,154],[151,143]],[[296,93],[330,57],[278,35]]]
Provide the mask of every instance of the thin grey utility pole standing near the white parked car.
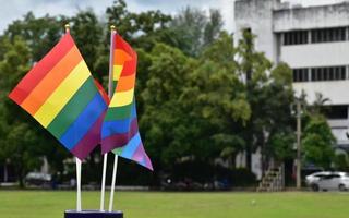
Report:
[[297,167],[297,189],[300,190],[302,184],[302,179],[301,179],[301,169],[302,169],[302,156],[301,156],[301,134],[302,134],[302,119],[301,119],[301,113],[302,113],[302,108],[301,108],[301,101],[300,99],[297,99],[297,161],[296,161],[296,167]]

